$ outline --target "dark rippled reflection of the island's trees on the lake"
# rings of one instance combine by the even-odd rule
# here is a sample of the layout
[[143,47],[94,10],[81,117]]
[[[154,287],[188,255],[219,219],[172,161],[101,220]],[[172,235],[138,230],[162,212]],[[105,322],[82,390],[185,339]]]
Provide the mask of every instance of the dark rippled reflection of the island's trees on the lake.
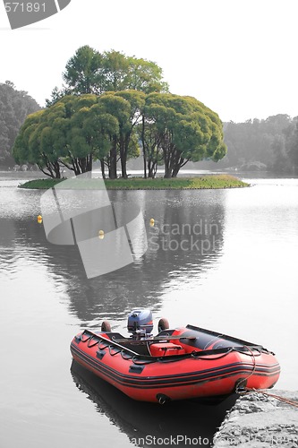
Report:
[[[91,326],[103,318],[122,320],[135,306],[157,311],[161,293],[171,286],[171,280],[190,282],[200,277],[201,271],[216,263],[223,244],[223,191],[122,191],[109,194],[115,202],[140,204],[149,249],[138,263],[93,279],[86,277],[77,246],[52,245],[47,242],[43,226],[32,220],[13,221],[16,235],[21,232],[24,239],[36,247],[38,254],[42,252],[42,263],[47,264],[57,282],[66,285],[71,312],[77,314],[83,324]],[[155,220],[154,228],[149,225],[151,218]],[[199,234],[198,223],[207,226],[209,231],[203,228]],[[177,232],[177,229],[181,231]],[[170,235],[166,235],[168,231]],[[172,246],[165,250],[161,238],[171,241]],[[186,243],[182,247],[183,239]],[[209,250],[202,254],[198,245],[191,246],[191,239],[199,241],[199,247],[200,241],[209,243]]]

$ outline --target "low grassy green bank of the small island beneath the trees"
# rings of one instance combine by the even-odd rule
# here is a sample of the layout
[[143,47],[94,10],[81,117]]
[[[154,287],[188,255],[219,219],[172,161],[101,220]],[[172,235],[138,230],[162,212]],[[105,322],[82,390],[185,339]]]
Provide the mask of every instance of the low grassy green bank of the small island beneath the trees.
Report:
[[[47,190],[66,180],[62,179],[35,179],[19,185],[19,188]],[[69,179],[71,180],[71,179]],[[102,188],[102,183],[98,183],[97,178],[73,179],[73,188],[97,189]],[[102,179],[100,179],[102,180]],[[80,184],[79,184],[80,183]],[[97,185],[98,184],[98,185]],[[71,186],[71,184],[69,184]],[[128,179],[106,179],[106,190],[200,190],[200,189],[220,189],[220,188],[243,188],[250,186],[237,177],[219,174],[200,177],[157,177],[154,179],[143,177],[129,177]]]

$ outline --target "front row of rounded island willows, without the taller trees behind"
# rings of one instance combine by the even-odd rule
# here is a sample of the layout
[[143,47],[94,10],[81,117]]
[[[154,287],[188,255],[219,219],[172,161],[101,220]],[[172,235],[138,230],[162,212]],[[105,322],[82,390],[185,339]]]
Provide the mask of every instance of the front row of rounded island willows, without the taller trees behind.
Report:
[[158,162],[165,177],[177,176],[189,160],[218,160],[226,154],[217,114],[191,97],[139,90],[102,95],[67,95],[27,117],[13,147],[19,163],[29,161],[50,177],[67,167],[81,174],[100,160],[103,175],[127,177],[127,159],[142,148],[145,177]]

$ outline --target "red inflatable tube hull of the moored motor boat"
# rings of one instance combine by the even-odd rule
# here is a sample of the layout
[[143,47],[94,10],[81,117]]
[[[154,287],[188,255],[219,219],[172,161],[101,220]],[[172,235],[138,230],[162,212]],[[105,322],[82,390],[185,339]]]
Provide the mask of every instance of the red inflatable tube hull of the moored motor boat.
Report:
[[[181,329],[173,332],[172,337],[179,334]],[[239,385],[268,389],[279,377],[277,358],[268,350],[253,346],[245,351],[240,347],[226,351],[192,349],[188,354],[182,347],[182,355],[149,357],[121,349],[111,340],[111,334],[98,333],[89,339],[87,336],[80,333],[73,338],[72,357],[138,401],[163,403],[217,397],[234,393]],[[187,344],[180,344],[183,345]]]

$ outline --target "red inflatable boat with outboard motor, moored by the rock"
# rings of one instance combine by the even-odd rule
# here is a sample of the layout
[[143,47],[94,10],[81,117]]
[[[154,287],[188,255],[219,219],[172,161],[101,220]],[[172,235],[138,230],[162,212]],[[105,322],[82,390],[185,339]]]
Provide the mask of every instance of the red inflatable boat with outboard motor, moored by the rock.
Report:
[[73,338],[72,357],[139,401],[220,398],[277,383],[277,358],[262,346],[192,325],[167,327],[161,319],[153,337],[151,312],[133,310],[130,338],[111,332],[105,321],[101,332]]

